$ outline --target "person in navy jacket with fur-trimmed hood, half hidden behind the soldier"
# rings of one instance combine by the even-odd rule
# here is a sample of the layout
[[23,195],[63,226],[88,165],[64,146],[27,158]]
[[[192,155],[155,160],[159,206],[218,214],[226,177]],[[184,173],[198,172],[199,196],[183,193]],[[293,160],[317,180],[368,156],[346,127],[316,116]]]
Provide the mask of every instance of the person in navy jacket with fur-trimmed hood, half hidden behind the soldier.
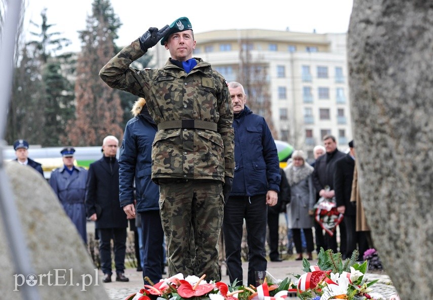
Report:
[[[164,271],[164,231],[160,215],[159,187],[151,179],[152,142],[156,124],[144,98],[132,109],[134,118],[125,127],[119,155],[120,205],[130,218],[141,219],[143,243],[143,279],[159,282]],[[134,180],[135,191],[134,195]],[[134,200],[137,205],[134,206]],[[150,284],[144,280],[144,284]]]

